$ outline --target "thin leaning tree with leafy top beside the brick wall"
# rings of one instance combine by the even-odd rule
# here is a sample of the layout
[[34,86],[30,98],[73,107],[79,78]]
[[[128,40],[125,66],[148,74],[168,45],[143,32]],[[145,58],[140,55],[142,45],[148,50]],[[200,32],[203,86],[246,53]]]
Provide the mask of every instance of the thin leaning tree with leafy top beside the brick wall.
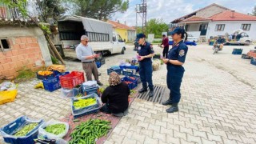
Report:
[[54,56],[56,56],[56,58],[58,58],[58,60],[60,60],[62,62],[62,64],[65,64],[62,57],[60,56],[60,54],[58,53],[58,50],[56,49],[56,47],[54,46],[54,43],[51,41],[50,39],[50,28],[49,26],[46,26],[42,23],[38,22],[38,18],[34,18],[33,16],[31,16],[28,11],[26,10],[26,5],[27,5],[27,1],[26,0],[3,0],[3,3],[6,4],[7,6],[9,6],[10,8],[13,9],[18,9],[18,11],[22,14],[22,17],[26,17],[26,18],[30,18],[34,24],[36,26],[38,26],[43,34],[46,37],[46,41],[49,43],[49,50],[50,52],[52,52],[52,54],[54,54]]

